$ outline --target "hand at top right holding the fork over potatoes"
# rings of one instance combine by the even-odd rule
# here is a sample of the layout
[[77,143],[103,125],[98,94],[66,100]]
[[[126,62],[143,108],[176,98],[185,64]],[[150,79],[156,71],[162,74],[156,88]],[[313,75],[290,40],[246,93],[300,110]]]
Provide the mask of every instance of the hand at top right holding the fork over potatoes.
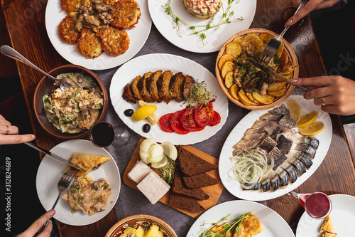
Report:
[[[300,9],[300,11],[297,11],[297,14],[295,14],[295,16],[288,19],[288,22],[285,24],[285,27],[292,26],[297,21],[300,21],[300,19],[307,16],[313,10],[326,9],[328,7],[333,6],[338,1],[340,0],[310,0],[307,2],[307,4],[305,4],[305,6],[302,7],[302,9]],[[293,0],[294,6],[300,6],[300,4],[301,0]]]

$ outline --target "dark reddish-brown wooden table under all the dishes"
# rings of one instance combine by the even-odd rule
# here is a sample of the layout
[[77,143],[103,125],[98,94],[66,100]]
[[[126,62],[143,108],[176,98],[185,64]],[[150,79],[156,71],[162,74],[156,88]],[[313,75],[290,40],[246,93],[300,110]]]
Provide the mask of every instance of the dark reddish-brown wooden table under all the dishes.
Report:
[[[45,31],[46,3],[47,0],[1,0],[13,48],[16,48],[35,65],[48,71],[59,65],[67,64],[67,61],[55,51]],[[292,1],[258,1],[256,16],[251,28],[268,28],[271,31],[281,32],[285,19],[291,14],[291,11],[283,12],[286,6],[292,6]],[[297,53],[300,69],[302,69],[300,77],[327,74],[309,17],[306,17],[300,26],[291,27],[285,38]],[[1,57],[1,60],[8,60],[4,56]],[[50,149],[62,141],[51,137],[40,128],[32,109],[35,86],[42,75],[21,63],[17,66],[31,124],[36,135],[35,141],[40,147]],[[331,117],[333,136],[329,152],[315,174],[300,186],[300,192],[324,191],[327,194],[341,193],[355,196],[355,167],[349,145],[339,117],[337,115],[331,115]],[[283,216],[295,230],[304,211],[300,204],[297,202],[284,204],[279,199],[273,199],[267,201],[267,205]],[[101,221],[89,226],[68,226],[59,223],[58,228],[60,236],[104,236],[116,221],[116,215],[114,211],[111,211]]]

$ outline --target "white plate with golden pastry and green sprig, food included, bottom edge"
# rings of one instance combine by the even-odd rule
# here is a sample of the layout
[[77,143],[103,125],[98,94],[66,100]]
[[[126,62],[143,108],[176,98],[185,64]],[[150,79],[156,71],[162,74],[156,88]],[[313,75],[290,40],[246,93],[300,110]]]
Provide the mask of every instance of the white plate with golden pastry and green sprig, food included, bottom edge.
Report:
[[240,236],[295,236],[288,223],[275,211],[244,200],[226,201],[208,209],[193,223],[187,236],[218,236],[217,233],[224,233],[226,229],[230,229],[230,236],[234,236],[236,226],[241,231]]

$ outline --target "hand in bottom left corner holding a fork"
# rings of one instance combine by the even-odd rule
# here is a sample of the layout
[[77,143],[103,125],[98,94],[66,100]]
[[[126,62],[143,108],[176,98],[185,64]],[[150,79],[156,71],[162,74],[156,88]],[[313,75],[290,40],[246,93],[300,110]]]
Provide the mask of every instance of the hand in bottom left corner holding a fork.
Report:
[[[38,218],[37,220],[35,220],[35,222],[33,222],[33,224],[28,227],[28,229],[26,231],[23,231],[22,233],[19,233],[16,237],[32,237],[35,235],[35,233],[37,233],[37,231],[43,226],[43,224],[45,223],[45,221],[48,221],[50,218],[52,218],[55,214],[55,210],[49,210],[47,211],[45,214],[43,214],[42,216],[40,216],[40,218]],[[40,232],[38,234],[38,237],[48,237],[50,236],[50,232],[52,232],[52,221],[48,221],[48,225],[45,226],[45,228],[43,229],[42,232]]]

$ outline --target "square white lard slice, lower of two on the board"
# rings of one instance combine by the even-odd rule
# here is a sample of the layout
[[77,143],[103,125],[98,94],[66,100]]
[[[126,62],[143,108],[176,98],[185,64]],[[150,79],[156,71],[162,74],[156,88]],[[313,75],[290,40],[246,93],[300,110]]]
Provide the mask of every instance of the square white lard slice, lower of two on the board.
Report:
[[158,174],[151,172],[137,185],[137,188],[151,201],[151,204],[155,204],[169,191],[170,186],[160,179]]

